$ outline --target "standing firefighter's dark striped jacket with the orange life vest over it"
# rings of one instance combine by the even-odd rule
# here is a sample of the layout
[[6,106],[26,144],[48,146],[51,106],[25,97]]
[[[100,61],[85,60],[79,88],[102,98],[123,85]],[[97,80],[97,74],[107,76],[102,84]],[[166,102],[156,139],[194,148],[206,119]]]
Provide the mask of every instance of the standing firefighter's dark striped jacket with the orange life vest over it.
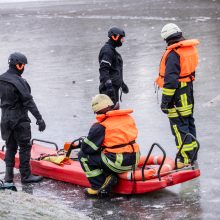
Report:
[[193,113],[193,81],[198,65],[196,45],[199,41],[183,40],[167,47],[156,83],[162,87],[162,105],[168,117],[189,116]]

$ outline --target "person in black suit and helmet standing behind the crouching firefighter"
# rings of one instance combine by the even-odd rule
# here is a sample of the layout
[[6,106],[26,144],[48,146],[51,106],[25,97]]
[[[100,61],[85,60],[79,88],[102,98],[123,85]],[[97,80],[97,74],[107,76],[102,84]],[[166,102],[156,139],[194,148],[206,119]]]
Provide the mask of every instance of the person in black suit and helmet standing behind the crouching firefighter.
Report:
[[99,53],[99,93],[108,95],[116,104],[119,101],[120,88],[125,94],[129,92],[128,86],[123,81],[123,60],[116,51],[116,47],[121,47],[124,42],[125,32],[113,27],[108,31],[108,37],[108,42]]

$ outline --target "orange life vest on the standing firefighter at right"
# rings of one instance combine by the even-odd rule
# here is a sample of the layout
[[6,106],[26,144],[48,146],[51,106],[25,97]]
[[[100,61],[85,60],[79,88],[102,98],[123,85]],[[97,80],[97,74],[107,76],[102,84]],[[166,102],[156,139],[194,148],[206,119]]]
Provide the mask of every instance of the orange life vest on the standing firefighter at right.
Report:
[[198,65],[198,52],[195,46],[198,44],[199,41],[197,39],[192,39],[183,40],[167,47],[160,62],[159,76],[155,81],[159,87],[163,88],[166,60],[172,50],[180,56],[179,82],[191,82],[194,80],[192,74],[195,72]]

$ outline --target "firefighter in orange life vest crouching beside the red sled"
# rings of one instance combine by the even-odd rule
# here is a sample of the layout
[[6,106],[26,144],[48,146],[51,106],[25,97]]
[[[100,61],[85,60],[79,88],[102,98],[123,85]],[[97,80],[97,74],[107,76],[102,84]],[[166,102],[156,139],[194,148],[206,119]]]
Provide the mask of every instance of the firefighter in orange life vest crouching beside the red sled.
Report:
[[116,174],[135,169],[139,162],[138,130],[130,115],[133,110],[119,110],[105,94],[93,97],[92,109],[97,121],[83,140],[78,158],[91,184],[85,193],[106,196],[117,183]]

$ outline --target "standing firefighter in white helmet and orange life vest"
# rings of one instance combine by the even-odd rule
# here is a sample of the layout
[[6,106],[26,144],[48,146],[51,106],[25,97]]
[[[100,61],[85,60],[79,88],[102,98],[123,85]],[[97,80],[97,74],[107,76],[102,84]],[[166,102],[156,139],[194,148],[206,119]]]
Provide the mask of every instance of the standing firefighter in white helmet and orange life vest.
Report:
[[[162,28],[161,37],[166,41],[167,48],[155,82],[162,88],[161,110],[168,115],[177,148],[180,148],[187,133],[196,137],[193,81],[198,65],[196,46],[199,41],[186,40],[181,29],[173,23]],[[196,148],[196,142],[189,136],[178,158],[178,168],[191,163]]]

